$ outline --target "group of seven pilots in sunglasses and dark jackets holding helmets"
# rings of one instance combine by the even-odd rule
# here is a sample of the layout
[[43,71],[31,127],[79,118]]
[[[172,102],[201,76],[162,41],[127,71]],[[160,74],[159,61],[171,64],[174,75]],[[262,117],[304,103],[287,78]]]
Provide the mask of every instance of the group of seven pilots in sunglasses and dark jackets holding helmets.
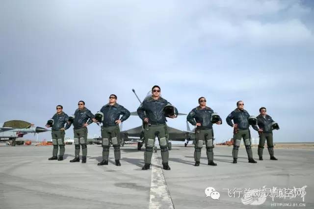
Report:
[[[221,125],[222,120],[217,113],[206,105],[206,99],[204,97],[199,98],[198,103],[199,105],[193,108],[186,117],[189,123],[196,126],[194,151],[195,166],[200,165],[201,150],[204,143],[206,145],[208,165],[215,166],[217,164],[213,161],[214,144],[212,125]],[[226,118],[227,124],[234,128],[234,146],[232,150],[233,163],[237,163],[238,149],[242,138],[248,155],[248,162],[257,163],[253,159],[249,126],[252,126],[254,130],[259,132],[259,159],[263,160],[262,154],[264,144],[265,141],[267,141],[267,149],[270,159],[277,160],[277,158],[274,157],[272,130],[278,130],[279,126],[269,115],[266,114],[266,108],[261,107],[260,115],[254,117],[250,116],[250,114],[244,109],[243,101],[238,101],[236,106],[237,108]],[[177,108],[160,96],[160,87],[155,85],[152,88],[152,96],[145,98],[142,104],[137,108],[137,114],[142,119],[144,128],[145,164],[142,170],[150,169],[156,136],[159,140],[161,150],[162,167],[165,170],[170,170],[168,164],[169,134],[166,117],[176,118],[178,115]],[[121,115],[122,117],[120,118]],[[57,105],[56,113],[46,124],[46,127],[52,128],[53,150],[52,157],[50,157],[49,160],[63,160],[65,152],[65,130],[69,129],[73,124],[75,157],[70,160],[70,162],[80,161],[79,151],[81,147],[81,162],[86,163],[87,126],[95,122],[103,124],[101,126],[103,160],[99,162],[98,165],[108,164],[109,148],[112,144],[114,149],[115,164],[117,166],[121,166],[119,124],[127,120],[129,117],[130,111],[117,103],[117,96],[114,94],[109,96],[109,102],[105,104],[95,115],[85,107],[84,101],[78,102],[78,109],[75,111],[74,115],[70,117],[63,112],[62,105]],[[64,127],[64,125],[66,126]],[[58,148],[60,148],[59,157],[57,157]]]

